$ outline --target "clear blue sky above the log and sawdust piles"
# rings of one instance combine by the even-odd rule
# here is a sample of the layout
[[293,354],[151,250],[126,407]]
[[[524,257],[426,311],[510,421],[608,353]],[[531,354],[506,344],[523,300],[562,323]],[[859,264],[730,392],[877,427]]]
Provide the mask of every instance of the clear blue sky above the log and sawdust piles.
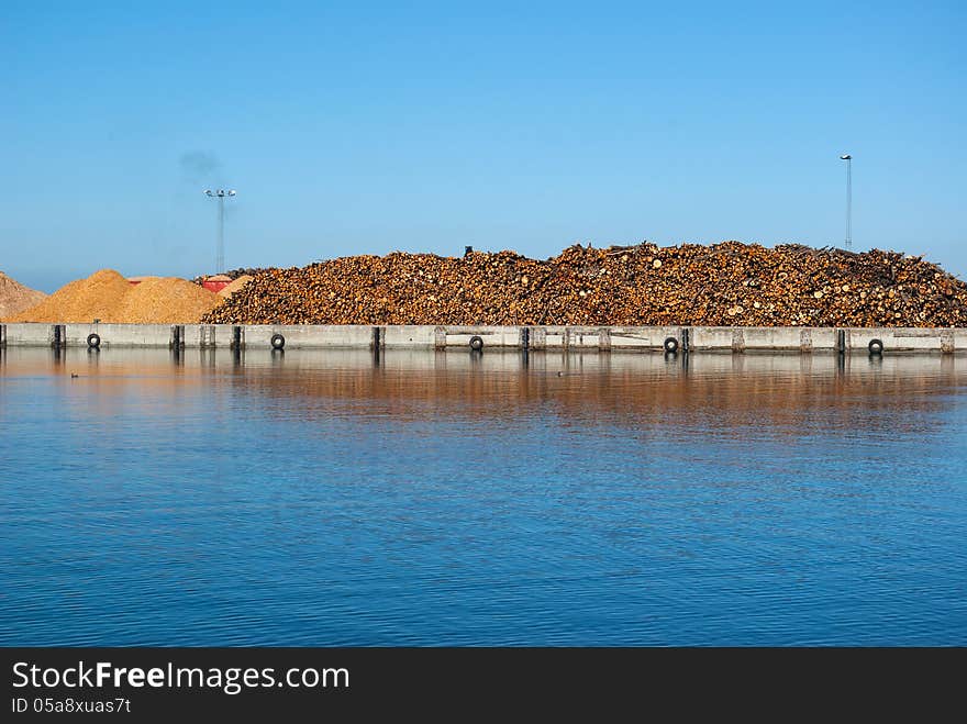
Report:
[[0,269],[842,246],[967,276],[967,3],[21,2]]

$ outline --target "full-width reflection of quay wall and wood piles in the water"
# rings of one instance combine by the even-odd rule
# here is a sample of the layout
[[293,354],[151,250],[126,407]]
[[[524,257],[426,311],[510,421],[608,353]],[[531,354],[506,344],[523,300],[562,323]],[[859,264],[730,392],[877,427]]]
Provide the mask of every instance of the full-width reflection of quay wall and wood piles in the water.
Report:
[[[800,437],[818,428],[925,433],[924,413],[967,379],[955,356],[400,352],[87,350],[11,348],[2,378],[52,375],[104,413],[145,390],[170,404],[230,394],[267,417],[333,414],[399,422],[554,419],[571,428],[675,427]],[[73,377],[76,375],[77,377]],[[147,414],[168,414],[158,404]],[[348,408],[346,405],[349,405]],[[2,413],[0,413],[2,414]]]

